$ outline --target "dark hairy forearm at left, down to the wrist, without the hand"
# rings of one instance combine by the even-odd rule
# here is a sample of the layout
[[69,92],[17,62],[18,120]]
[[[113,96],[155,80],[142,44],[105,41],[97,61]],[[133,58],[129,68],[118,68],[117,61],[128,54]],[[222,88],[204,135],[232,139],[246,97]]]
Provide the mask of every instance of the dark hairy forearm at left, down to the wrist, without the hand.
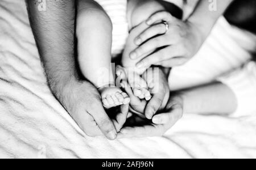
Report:
[[75,1],[46,0],[46,8],[38,9],[38,1],[27,0],[28,15],[40,58],[54,95],[75,78]]

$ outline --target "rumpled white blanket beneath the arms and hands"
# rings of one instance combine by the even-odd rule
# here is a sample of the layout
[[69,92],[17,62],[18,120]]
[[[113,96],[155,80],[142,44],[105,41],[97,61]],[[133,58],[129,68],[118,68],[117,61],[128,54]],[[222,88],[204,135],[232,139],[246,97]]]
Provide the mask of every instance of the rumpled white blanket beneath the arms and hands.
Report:
[[0,1],[0,158],[256,158],[255,127],[185,115],[164,137],[87,137],[47,87],[24,1]]

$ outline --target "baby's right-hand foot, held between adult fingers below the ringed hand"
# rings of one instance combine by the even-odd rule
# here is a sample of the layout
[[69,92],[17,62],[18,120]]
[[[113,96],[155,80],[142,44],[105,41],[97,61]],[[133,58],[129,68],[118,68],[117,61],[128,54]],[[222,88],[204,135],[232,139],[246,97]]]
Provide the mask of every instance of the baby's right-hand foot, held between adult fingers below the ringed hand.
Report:
[[133,90],[133,94],[139,97],[139,99],[151,99],[151,94],[147,90],[147,82],[141,77],[141,75],[136,73],[134,70],[129,68],[125,69],[121,66],[117,66],[116,74],[119,79],[127,80],[127,82],[129,82],[129,85]]

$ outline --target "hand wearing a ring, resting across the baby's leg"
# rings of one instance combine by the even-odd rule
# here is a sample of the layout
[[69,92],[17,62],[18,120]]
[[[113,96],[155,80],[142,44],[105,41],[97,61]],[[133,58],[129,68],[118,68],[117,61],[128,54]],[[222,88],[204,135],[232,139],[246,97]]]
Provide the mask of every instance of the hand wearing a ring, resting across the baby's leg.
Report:
[[131,59],[141,58],[138,68],[183,65],[197,53],[206,38],[198,25],[177,19],[167,11],[157,12],[146,23],[151,27],[137,36],[134,41],[139,46],[130,54]]

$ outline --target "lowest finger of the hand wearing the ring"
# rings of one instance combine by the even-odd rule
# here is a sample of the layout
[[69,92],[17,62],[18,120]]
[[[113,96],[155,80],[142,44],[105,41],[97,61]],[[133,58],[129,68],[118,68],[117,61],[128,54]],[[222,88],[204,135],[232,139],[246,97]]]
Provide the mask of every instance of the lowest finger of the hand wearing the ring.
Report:
[[164,49],[159,50],[158,52],[151,54],[150,56],[143,58],[141,61],[137,63],[136,66],[138,68],[150,67],[151,65],[155,65],[167,59],[181,56],[182,53],[183,52],[180,52],[176,49],[175,45],[168,46]]

